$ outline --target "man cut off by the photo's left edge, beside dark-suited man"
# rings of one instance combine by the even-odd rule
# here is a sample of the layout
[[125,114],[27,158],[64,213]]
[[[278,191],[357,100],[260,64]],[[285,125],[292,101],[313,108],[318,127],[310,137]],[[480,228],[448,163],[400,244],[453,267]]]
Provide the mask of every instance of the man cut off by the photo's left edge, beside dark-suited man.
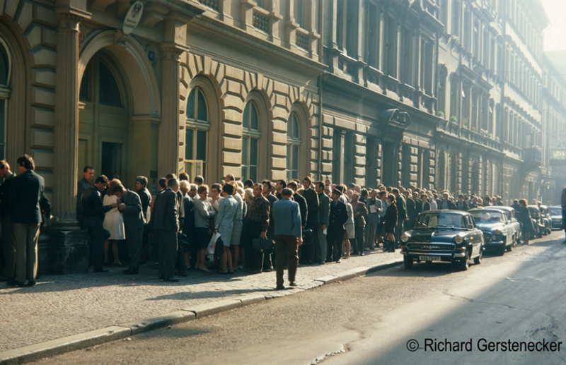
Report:
[[0,177],[4,183],[0,186],[0,224],[2,227],[2,249],[4,252],[4,271],[1,281],[13,280],[16,273],[16,242],[13,241],[12,205],[13,181],[16,177],[10,171],[10,165],[5,160],[0,161]]

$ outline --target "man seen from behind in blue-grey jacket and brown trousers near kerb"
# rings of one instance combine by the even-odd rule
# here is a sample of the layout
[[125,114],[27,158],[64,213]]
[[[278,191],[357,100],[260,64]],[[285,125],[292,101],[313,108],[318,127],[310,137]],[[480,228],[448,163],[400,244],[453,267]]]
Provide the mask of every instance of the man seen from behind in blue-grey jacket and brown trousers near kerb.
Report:
[[291,201],[293,191],[285,188],[281,192],[282,199],[273,203],[273,217],[275,218],[275,264],[277,274],[277,287],[285,289],[283,285],[283,263],[285,254],[289,253],[289,285],[296,286],[296,267],[299,263],[299,246],[303,244],[301,229],[301,212],[299,203]]

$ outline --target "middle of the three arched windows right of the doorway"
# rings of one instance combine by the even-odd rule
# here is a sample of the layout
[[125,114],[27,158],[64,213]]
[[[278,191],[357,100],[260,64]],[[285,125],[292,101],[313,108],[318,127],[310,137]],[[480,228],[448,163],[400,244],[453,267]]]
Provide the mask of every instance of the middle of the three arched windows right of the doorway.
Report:
[[243,110],[242,132],[242,180],[258,181],[258,148],[260,120],[254,102],[248,102]]

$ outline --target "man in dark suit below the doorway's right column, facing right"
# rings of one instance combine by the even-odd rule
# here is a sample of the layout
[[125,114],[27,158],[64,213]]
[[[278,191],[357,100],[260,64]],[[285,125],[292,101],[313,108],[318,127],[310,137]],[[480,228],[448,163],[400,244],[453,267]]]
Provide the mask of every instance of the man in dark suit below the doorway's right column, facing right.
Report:
[[158,195],[151,214],[151,229],[155,232],[159,249],[159,278],[166,282],[178,282],[175,277],[177,258],[177,232],[179,215],[177,194],[173,188],[179,185],[177,179],[169,179],[168,188]]

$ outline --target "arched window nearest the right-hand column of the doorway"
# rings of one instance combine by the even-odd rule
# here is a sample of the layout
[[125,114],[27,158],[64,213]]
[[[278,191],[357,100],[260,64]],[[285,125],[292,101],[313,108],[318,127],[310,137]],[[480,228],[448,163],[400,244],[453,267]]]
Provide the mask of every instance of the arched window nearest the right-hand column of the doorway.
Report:
[[190,176],[204,176],[204,172],[207,171],[207,140],[210,123],[207,100],[198,86],[193,88],[189,94],[186,115],[185,171]]

